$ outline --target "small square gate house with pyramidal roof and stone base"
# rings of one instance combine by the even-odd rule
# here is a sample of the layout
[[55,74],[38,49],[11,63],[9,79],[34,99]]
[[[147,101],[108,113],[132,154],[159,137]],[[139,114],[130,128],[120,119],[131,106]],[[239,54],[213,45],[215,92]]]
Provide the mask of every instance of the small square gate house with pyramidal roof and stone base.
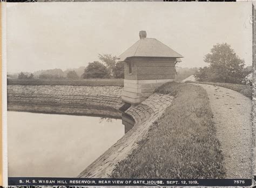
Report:
[[170,47],[139,32],[135,44],[118,57],[124,62],[124,90],[122,100],[132,105],[144,101],[154,89],[175,79],[175,64],[183,58]]

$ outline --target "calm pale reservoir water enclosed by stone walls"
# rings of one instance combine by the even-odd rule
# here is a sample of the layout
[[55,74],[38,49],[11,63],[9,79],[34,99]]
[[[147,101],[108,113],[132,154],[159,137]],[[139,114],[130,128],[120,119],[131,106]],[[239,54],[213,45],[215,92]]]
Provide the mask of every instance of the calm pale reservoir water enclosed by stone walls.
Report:
[[8,176],[76,177],[124,134],[118,119],[8,112]]

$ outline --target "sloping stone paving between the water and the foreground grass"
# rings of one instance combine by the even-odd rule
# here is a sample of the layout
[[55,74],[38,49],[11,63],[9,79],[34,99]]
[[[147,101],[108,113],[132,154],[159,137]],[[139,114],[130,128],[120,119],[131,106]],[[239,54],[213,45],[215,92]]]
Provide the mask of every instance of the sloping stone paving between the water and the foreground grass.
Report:
[[137,106],[131,106],[125,113],[135,120],[134,127],[102,156],[89,165],[78,177],[107,178],[115,165],[125,159],[137,147],[137,142],[146,136],[152,123],[156,121],[167,106],[171,105],[173,96],[154,93]]

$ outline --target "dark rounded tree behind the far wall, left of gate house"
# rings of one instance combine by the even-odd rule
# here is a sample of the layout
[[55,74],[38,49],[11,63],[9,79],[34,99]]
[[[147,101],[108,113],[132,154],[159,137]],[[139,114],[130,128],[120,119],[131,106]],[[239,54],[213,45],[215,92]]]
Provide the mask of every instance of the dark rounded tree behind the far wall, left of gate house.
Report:
[[106,66],[99,61],[89,62],[83,74],[83,78],[109,78],[109,76]]

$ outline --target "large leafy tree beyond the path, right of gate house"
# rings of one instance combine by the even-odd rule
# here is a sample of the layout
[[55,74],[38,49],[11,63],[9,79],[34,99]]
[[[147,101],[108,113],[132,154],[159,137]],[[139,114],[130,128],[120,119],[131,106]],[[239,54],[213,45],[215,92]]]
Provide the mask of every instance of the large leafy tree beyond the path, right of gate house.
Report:
[[243,83],[248,74],[244,60],[227,43],[214,45],[204,61],[210,66],[199,69],[195,74],[198,81]]

